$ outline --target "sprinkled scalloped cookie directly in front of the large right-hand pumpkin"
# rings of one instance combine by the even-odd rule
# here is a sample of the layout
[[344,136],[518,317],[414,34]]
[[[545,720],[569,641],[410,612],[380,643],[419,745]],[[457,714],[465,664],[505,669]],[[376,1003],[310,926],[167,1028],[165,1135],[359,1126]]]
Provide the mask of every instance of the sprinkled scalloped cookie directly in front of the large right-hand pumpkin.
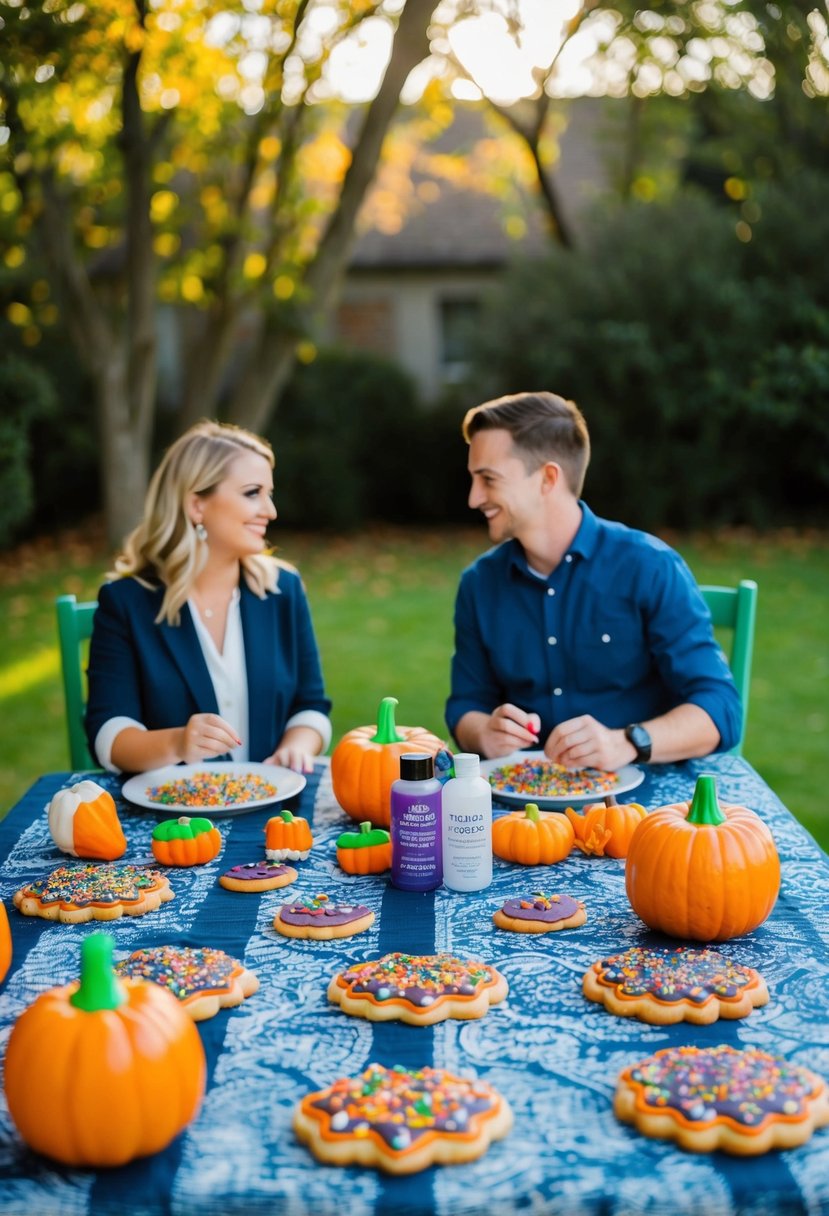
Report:
[[619,1018],[658,1026],[746,1018],[768,1002],[758,972],[709,946],[631,946],[593,963],[582,991]]

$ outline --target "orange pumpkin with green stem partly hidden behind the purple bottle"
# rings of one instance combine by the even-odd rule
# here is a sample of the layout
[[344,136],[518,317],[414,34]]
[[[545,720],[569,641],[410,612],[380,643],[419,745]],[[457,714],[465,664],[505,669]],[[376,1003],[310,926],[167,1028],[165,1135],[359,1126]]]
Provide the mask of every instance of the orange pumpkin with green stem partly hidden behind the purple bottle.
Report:
[[436,755],[446,748],[442,739],[422,726],[395,726],[395,697],[384,697],[377,726],[348,731],[331,756],[334,798],[353,820],[388,828],[391,783],[400,776],[400,756],[411,753]]

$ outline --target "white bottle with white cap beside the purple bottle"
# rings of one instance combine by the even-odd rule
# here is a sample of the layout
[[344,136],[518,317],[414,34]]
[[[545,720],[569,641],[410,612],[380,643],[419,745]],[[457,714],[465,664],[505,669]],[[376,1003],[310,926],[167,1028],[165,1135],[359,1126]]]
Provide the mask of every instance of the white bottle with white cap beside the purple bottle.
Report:
[[492,882],[492,789],[474,753],[456,751],[453,762],[441,795],[444,885],[480,891]]

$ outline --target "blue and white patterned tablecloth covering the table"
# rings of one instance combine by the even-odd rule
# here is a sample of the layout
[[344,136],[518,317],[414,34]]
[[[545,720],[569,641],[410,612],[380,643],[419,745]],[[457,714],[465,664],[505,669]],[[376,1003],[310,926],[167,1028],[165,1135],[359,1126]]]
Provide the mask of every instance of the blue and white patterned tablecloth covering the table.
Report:
[[[109,925],[115,957],[142,945],[213,945],[243,958],[261,981],[233,1010],[199,1023],[208,1091],[199,1116],[163,1153],[109,1171],[68,1170],[29,1153],[0,1103],[0,1212],[21,1216],[109,1216],[115,1212],[219,1216],[483,1216],[497,1212],[678,1214],[732,1216],[829,1212],[829,1128],[805,1147],[762,1158],[695,1156],[645,1139],[611,1110],[619,1071],[677,1043],[755,1045],[829,1077],[829,857],[796,823],[745,760],[714,756],[648,769],[631,798],[645,806],[688,798],[699,772],[715,772],[722,801],[757,810],[783,861],[778,903],[765,925],[724,953],[757,967],[771,1002],[740,1021],[700,1028],[648,1026],[610,1017],[581,995],[590,964],[654,939],[625,897],[624,862],[571,855],[556,867],[496,862],[492,886],[478,894],[397,891],[385,877],[349,877],[334,840],[350,821],[338,807],[329,771],[318,765],[292,804],[314,827],[315,848],[298,862],[284,894],[237,895],[218,886],[231,865],[263,856],[267,810],[216,822],[224,837],[208,866],[170,872],[175,900],[146,917]],[[0,1043],[15,1018],[46,987],[74,978],[88,925],[21,916],[15,890],[61,860],[44,809],[77,775],[45,776],[0,823],[0,896],[10,910],[15,959],[0,993]],[[156,817],[115,794],[128,861],[151,862]],[[491,924],[511,895],[557,889],[585,900],[587,923],[525,939]],[[327,891],[367,903],[373,927],[351,939],[294,941],[271,921],[286,899]],[[335,972],[391,950],[447,950],[492,962],[511,985],[508,1000],[479,1021],[434,1028],[372,1024],[328,1003]],[[291,1130],[294,1104],[310,1090],[370,1062],[432,1064],[475,1073],[511,1103],[515,1126],[469,1165],[408,1178],[321,1166]],[[163,1097],[159,1097],[163,1100]]]

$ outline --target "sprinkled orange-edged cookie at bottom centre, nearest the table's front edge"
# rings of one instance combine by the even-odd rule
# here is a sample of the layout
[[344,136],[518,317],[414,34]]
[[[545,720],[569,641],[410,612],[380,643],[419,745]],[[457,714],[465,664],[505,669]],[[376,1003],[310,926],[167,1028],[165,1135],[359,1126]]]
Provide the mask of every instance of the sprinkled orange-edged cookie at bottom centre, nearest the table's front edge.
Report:
[[317,1160],[388,1173],[474,1161],[512,1124],[506,1099],[484,1081],[379,1064],[309,1093],[293,1119]]

